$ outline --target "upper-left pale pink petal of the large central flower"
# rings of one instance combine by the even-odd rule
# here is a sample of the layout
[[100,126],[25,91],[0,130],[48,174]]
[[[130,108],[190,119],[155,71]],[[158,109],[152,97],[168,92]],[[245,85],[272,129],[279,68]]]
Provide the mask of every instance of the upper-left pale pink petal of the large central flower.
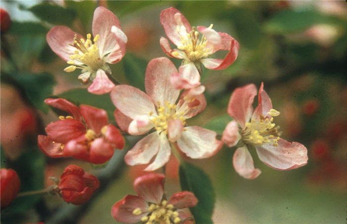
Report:
[[117,85],[111,92],[111,100],[120,112],[131,119],[141,115],[149,116],[151,112],[157,115],[151,98],[135,87]]

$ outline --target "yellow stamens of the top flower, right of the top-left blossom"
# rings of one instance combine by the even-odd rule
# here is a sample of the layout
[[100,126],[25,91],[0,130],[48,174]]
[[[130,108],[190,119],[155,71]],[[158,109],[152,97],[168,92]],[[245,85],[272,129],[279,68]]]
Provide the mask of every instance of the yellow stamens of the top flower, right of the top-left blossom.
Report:
[[[181,38],[181,45],[177,45],[177,48],[181,51],[174,51],[173,56],[181,56],[186,60],[197,62],[201,58],[206,58],[209,54],[212,54],[212,49],[207,48],[207,40],[205,35],[202,35],[199,39],[199,32],[195,30],[195,27],[188,33],[180,32],[183,25],[177,25],[176,30],[178,33],[183,33]],[[210,25],[210,29],[213,24]]]

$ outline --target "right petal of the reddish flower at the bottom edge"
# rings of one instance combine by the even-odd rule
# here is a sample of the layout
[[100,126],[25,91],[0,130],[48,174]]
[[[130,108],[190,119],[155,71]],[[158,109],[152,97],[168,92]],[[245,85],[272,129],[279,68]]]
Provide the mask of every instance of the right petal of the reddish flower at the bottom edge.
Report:
[[198,199],[190,191],[174,193],[168,201],[168,204],[172,204],[176,209],[194,207],[197,203]]

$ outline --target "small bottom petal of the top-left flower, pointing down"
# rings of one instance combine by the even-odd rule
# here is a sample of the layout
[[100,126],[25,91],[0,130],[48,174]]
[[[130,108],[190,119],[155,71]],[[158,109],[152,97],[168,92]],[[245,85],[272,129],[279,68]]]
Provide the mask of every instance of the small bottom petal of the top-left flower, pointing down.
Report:
[[94,94],[105,94],[111,92],[111,90],[115,87],[109,78],[107,77],[104,70],[99,69],[96,72],[96,77],[93,80],[93,83],[88,87],[88,91]]

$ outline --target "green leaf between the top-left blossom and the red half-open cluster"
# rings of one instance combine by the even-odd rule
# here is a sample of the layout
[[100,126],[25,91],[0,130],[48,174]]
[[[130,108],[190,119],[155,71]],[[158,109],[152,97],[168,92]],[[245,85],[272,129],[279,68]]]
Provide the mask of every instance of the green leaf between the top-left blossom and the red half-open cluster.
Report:
[[106,110],[109,119],[114,120],[113,114],[116,108],[111,101],[110,94],[96,95],[88,92],[87,89],[79,88],[63,92],[57,95],[57,97],[65,98],[77,105],[86,104],[89,106],[104,109]]

